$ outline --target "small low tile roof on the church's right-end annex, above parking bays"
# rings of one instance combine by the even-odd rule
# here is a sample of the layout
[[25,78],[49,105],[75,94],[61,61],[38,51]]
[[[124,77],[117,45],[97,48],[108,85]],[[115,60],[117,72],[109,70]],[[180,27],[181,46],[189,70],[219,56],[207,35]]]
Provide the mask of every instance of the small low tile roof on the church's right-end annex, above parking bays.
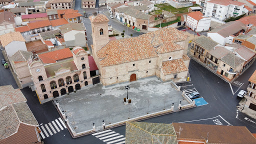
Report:
[[188,71],[182,58],[162,62],[162,72],[164,75]]

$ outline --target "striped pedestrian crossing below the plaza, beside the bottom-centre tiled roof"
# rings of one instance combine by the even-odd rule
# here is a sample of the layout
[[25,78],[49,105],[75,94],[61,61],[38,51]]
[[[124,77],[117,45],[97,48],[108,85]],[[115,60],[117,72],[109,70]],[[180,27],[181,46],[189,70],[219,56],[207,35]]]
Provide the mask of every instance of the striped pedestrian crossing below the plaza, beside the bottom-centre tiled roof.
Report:
[[97,133],[92,133],[91,135],[97,137],[98,139],[102,140],[106,144],[122,144],[125,143],[125,137],[111,129],[107,129],[104,131],[100,131]]

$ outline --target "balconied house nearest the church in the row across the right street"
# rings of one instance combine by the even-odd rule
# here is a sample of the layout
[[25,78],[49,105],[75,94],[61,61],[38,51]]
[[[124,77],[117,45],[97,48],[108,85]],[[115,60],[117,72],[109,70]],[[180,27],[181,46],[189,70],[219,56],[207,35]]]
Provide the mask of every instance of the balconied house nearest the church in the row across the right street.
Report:
[[218,43],[214,40],[200,35],[191,41],[190,55],[197,58],[198,60],[206,63],[207,53],[212,50]]

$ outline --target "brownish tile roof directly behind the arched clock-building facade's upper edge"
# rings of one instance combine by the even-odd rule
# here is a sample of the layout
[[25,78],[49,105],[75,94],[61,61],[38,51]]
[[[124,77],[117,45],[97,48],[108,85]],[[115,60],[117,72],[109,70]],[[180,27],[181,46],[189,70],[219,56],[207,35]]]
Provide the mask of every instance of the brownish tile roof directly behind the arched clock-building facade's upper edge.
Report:
[[77,67],[73,61],[73,58],[69,58],[67,60],[63,60],[60,62],[56,62],[56,63],[52,63],[44,66],[47,77],[55,76],[55,71],[63,67],[70,68],[70,71],[77,70]]

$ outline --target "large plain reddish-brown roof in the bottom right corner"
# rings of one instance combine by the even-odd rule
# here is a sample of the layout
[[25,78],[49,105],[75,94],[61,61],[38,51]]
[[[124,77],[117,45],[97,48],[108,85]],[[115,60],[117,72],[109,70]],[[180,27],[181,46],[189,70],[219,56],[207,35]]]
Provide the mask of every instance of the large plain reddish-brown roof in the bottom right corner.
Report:
[[172,125],[174,126],[175,131],[182,128],[180,138],[202,139],[202,137],[207,137],[208,133],[208,143],[256,143],[256,138],[252,136],[245,126],[191,123],[172,123]]

